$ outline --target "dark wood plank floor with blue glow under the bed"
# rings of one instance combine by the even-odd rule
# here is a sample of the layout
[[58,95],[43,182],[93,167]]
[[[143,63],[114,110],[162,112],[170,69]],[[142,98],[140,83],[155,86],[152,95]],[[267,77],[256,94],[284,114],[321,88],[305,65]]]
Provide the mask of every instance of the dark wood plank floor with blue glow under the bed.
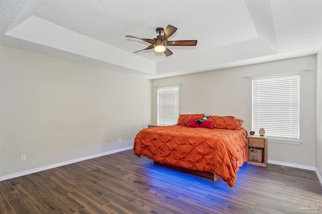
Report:
[[244,164],[230,188],[132,150],[0,182],[0,213],[304,213],[305,201],[321,210],[314,171]]

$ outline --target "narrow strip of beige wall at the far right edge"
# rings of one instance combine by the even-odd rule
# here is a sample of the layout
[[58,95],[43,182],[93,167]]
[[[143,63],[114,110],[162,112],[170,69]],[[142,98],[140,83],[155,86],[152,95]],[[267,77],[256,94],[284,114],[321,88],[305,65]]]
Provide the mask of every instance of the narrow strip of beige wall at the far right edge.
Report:
[[[322,47],[317,53],[316,68],[316,168],[322,178]],[[320,180],[322,182],[322,180]]]

